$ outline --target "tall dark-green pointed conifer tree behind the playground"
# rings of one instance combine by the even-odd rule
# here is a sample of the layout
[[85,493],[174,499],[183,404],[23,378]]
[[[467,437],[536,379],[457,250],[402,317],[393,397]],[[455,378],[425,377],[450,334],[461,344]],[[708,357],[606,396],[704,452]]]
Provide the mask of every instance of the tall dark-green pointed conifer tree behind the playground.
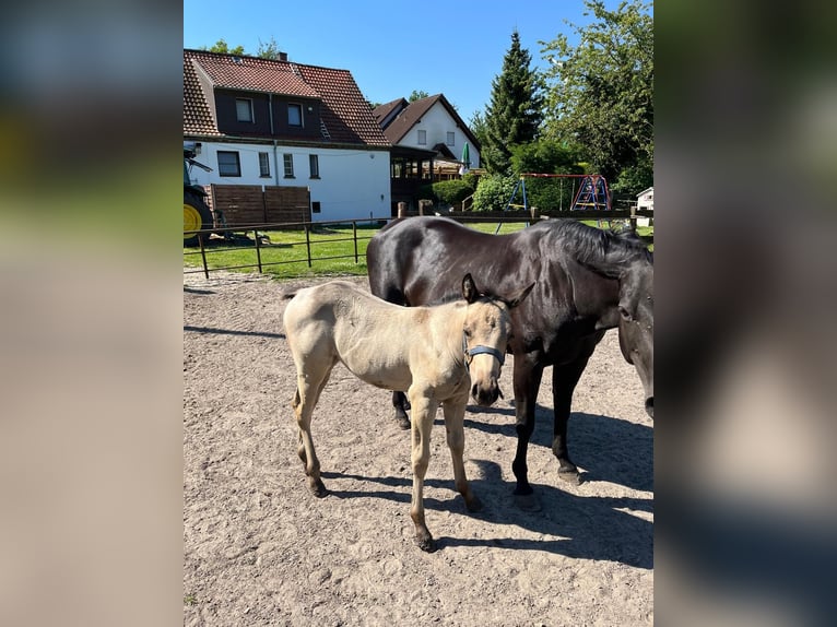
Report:
[[503,59],[503,72],[492,81],[491,103],[485,110],[482,157],[491,173],[510,174],[511,146],[533,141],[543,119],[541,79],[530,70],[532,57],[511,33],[511,47]]

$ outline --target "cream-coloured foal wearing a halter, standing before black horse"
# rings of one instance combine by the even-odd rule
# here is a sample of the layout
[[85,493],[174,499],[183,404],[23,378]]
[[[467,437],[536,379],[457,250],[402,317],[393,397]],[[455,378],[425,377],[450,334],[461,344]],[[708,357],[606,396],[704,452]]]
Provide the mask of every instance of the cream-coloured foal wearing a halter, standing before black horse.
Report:
[[413,407],[413,495],[410,517],[415,542],[436,549],[424,520],[424,476],[431,457],[431,428],[439,405],[453,460],[457,490],[470,511],[480,500],[465,477],[464,412],[469,391],[488,406],[497,400],[497,378],[509,341],[509,310],[534,284],[509,299],[480,294],[473,279],[462,280],[462,300],[435,307],[401,307],[352,283],[331,281],[300,289],[284,314],[285,334],[296,364],[292,406],[299,427],[297,452],[308,486],[317,497],[328,494],[311,439],[311,412],[332,368],[341,362],[361,380],[406,392]]

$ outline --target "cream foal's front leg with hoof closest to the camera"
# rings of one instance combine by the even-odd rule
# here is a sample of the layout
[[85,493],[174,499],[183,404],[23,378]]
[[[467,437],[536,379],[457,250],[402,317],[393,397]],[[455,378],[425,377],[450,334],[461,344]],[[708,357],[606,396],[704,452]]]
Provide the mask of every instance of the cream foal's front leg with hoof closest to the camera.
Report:
[[433,540],[424,521],[424,475],[431,461],[431,428],[436,417],[438,403],[425,394],[424,390],[410,393],[410,404],[413,407],[412,454],[413,463],[413,497],[410,506],[410,518],[415,525],[415,543],[418,548],[433,553],[436,542]]

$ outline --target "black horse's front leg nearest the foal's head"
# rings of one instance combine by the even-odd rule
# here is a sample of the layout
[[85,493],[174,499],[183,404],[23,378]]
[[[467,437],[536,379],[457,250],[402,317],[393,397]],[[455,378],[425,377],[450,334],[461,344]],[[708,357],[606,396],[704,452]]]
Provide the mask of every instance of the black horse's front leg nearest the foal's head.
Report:
[[515,418],[517,421],[517,452],[515,461],[511,463],[511,470],[517,478],[515,495],[518,498],[518,505],[529,509],[537,507],[537,504],[530,497],[533,493],[529,485],[529,466],[526,463],[526,456],[529,450],[529,438],[534,431],[534,407],[538,401],[538,390],[541,387],[543,377],[543,366],[535,363],[529,355],[515,355]]

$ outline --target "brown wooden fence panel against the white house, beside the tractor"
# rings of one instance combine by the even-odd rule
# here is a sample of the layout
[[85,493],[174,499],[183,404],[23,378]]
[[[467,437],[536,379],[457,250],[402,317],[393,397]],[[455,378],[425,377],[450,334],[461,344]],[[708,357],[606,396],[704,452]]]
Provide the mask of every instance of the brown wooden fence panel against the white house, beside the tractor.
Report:
[[213,184],[208,201],[216,228],[311,221],[307,187]]

